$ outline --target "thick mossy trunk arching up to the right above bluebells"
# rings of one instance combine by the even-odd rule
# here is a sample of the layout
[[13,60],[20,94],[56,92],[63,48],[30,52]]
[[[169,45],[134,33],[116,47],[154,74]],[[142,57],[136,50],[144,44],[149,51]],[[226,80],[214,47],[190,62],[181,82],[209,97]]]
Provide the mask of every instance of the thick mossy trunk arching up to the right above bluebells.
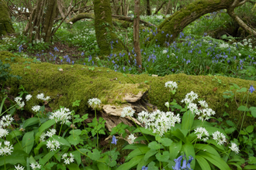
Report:
[[[161,24],[157,27],[156,36],[150,36],[147,45],[157,42],[163,46],[165,42],[173,42],[186,26],[188,26],[191,22],[194,22],[195,19],[199,19],[200,16],[210,12],[216,12],[221,9],[228,9],[228,14],[230,14],[230,16],[235,19],[237,15],[234,14],[234,8],[244,4],[244,2],[247,1],[197,0],[192,2],[185,8],[182,8],[178,12],[175,12],[173,15],[165,19],[164,22],[161,22]],[[232,5],[234,8],[230,8]],[[241,22],[239,24],[241,24]],[[247,29],[245,26],[242,26],[242,28]]]

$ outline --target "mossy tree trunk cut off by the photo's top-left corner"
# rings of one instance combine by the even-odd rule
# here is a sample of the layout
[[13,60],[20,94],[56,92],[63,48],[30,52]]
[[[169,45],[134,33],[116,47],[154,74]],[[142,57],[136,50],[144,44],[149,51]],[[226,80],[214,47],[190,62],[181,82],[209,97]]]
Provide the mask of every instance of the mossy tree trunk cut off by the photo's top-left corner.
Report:
[[0,0],[0,36],[5,36],[6,34],[14,32],[9,8],[5,0]]

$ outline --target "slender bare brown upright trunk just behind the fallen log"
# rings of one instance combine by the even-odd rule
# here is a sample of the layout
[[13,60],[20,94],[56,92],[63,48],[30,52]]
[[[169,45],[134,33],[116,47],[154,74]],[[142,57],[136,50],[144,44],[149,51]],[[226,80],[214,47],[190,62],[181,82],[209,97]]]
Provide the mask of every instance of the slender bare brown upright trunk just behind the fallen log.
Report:
[[134,22],[133,22],[133,44],[134,52],[137,55],[137,66],[142,68],[141,53],[140,53],[140,0],[134,0]]

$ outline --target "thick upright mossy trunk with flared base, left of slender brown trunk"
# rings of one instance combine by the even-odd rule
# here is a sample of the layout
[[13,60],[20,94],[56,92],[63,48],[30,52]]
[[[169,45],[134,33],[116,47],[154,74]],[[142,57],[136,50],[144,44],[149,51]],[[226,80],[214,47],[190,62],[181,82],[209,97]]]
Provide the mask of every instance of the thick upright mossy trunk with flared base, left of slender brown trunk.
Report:
[[102,55],[125,49],[112,27],[112,11],[109,0],[94,0],[95,34]]

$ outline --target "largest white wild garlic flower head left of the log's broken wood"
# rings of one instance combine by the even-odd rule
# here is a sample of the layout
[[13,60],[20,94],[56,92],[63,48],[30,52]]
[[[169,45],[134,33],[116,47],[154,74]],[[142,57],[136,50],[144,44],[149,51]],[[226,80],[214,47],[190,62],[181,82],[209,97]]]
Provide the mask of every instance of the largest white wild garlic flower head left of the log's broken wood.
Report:
[[67,124],[71,119],[71,111],[67,108],[61,108],[52,113],[49,118],[54,119],[56,123],[61,121],[61,124]]

